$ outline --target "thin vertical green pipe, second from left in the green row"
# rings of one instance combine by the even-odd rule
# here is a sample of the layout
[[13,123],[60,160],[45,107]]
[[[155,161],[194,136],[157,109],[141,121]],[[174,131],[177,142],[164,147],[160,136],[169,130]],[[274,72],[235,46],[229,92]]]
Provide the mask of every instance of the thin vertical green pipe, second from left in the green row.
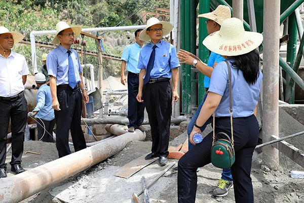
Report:
[[[194,0],[191,0],[194,1]],[[190,4],[187,3],[184,5],[185,7],[185,48],[186,51],[191,52],[191,26],[190,26]],[[191,115],[192,105],[191,105],[191,66],[186,64],[186,115]]]

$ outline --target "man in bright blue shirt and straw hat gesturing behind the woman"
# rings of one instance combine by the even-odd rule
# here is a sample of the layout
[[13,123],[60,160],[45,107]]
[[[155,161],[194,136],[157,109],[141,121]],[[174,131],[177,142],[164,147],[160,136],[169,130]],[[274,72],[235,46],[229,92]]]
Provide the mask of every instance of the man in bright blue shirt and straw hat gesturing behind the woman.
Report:
[[[206,18],[206,24],[207,24],[207,30],[208,34],[210,35],[211,33],[218,31],[221,27],[221,24],[225,19],[231,18],[231,11],[230,8],[227,6],[219,5],[213,12],[210,13],[205,13],[199,15],[199,17]],[[214,52],[211,52],[209,58],[208,58],[208,63],[205,64],[203,63],[198,57],[195,55],[186,52],[184,50],[180,50],[177,53],[177,57],[183,62],[181,63],[187,63],[189,65],[194,65],[202,74],[205,75],[204,79],[204,86],[206,89],[206,92],[208,92],[208,88],[210,85],[210,77],[213,71],[213,67],[216,66],[217,63],[220,61],[225,60],[221,55],[216,54]],[[195,112],[192,120],[189,122],[188,127],[187,127],[187,133],[188,136],[193,130],[193,127],[196,125],[196,120],[200,114],[200,111],[202,109],[202,106],[204,104],[204,101],[207,97],[207,93],[204,96],[204,99]],[[204,131],[206,126],[210,123],[211,121],[208,120],[202,127],[201,131]],[[190,142],[189,139],[189,150],[193,147],[194,145]],[[213,190],[213,195],[214,196],[226,196],[228,194],[229,189],[233,188],[233,179],[231,175],[231,170],[230,169],[223,169],[222,170],[222,175],[221,179],[217,183],[217,187]]]

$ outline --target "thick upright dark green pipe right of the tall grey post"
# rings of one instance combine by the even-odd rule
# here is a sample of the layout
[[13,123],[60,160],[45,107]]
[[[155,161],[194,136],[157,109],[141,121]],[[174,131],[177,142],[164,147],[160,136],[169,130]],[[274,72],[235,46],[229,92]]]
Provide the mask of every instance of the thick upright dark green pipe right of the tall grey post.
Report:
[[[294,12],[288,17],[288,34],[289,40],[287,42],[287,56],[286,61],[290,67],[293,67],[296,57],[296,43],[297,43],[297,28],[295,21]],[[294,104],[294,84],[291,86],[290,76],[286,75],[286,86],[285,86],[285,101],[288,104]]]

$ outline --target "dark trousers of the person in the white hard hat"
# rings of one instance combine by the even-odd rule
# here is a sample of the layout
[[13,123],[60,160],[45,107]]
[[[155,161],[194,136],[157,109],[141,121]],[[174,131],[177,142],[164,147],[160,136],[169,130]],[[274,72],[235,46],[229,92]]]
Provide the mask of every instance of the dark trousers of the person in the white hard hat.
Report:
[[[47,121],[41,118],[36,118],[37,123],[37,129],[38,129],[38,134],[37,138],[38,140],[42,140],[43,142],[48,142],[52,143],[54,142],[53,138],[53,129],[55,125],[55,119]],[[50,136],[50,134],[52,136]]]

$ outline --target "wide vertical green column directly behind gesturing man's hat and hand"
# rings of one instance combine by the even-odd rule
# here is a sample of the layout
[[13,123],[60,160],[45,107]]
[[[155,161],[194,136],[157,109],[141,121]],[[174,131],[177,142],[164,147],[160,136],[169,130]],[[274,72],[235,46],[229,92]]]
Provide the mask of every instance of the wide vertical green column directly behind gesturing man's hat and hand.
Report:
[[[210,0],[200,0],[199,3],[199,12],[208,13],[210,11]],[[208,30],[205,23],[205,18],[199,18],[199,58],[204,62],[208,62],[209,50],[203,45],[203,40],[208,36]],[[205,95],[205,86],[204,86],[205,76],[199,72],[199,98],[198,105],[203,101]]]

